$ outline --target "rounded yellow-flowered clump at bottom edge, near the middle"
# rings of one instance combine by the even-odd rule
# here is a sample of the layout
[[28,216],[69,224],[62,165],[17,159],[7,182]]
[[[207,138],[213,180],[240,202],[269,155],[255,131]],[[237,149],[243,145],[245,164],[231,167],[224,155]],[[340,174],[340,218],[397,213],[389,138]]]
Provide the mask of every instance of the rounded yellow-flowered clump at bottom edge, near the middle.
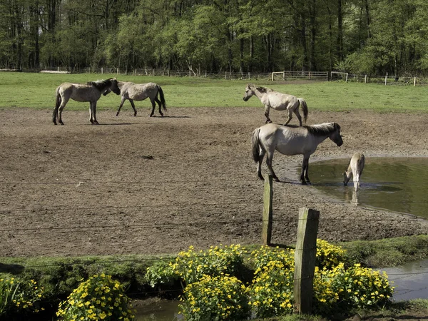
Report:
[[186,321],[245,320],[250,315],[245,285],[236,277],[220,273],[203,275],[185,287],[180,312]]

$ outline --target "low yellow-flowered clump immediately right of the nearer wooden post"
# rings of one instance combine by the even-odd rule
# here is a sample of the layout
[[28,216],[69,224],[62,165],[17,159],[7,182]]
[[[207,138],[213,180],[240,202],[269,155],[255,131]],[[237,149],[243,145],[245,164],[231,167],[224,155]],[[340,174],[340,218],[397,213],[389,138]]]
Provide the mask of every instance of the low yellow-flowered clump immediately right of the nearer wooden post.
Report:
[[385,305],[393,291],[385,272],[380,275],[360,264],[348,269],[343,263],[332,270],[315,269],[314,305],[319,312]]

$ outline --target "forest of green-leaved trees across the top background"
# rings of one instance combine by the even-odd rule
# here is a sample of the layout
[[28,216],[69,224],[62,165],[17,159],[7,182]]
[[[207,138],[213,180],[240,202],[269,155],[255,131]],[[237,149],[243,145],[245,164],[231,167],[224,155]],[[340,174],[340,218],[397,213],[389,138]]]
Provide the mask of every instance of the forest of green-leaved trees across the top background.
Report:
[[0,68],[428,73],[427,0],[0,0]]

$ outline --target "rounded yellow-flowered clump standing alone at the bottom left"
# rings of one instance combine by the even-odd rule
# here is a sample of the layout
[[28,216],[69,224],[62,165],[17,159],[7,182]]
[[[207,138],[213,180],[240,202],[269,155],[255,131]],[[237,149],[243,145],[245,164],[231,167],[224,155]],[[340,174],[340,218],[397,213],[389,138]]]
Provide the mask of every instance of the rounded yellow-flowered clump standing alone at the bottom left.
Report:
[[66,321],[133,320],[128,297],[120,282],[110,275],[94,275],[82,282],[68,300],[61,302],[56,315]]

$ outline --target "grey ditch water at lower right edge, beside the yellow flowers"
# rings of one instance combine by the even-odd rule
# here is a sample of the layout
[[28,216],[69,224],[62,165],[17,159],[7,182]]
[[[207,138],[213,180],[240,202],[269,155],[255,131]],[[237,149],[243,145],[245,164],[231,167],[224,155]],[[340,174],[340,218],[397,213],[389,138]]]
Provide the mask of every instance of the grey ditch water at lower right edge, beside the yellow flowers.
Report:
[[428,299],[428,260],[379,270],[387,272],[390,284],[395,287],[395,301]]

